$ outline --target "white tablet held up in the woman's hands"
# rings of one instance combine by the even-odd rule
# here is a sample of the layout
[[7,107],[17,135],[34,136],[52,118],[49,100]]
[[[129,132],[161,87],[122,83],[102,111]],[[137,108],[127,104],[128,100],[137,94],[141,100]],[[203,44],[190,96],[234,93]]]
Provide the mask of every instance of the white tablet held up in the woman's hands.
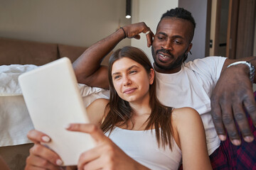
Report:
[[65,166],[78,164],[82,152],[95,143],[90,135],[65,130],[69,123],[89,123],[72,64],[67,57],[18,77],[36,130],[51,138],[47,144]]

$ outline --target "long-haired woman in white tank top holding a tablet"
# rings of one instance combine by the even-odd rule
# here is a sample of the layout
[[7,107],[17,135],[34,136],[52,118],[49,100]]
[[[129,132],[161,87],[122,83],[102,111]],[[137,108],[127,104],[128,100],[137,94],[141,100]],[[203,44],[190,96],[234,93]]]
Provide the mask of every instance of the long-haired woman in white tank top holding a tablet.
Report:
[[[183,169],[211,169],[200,115],[192,108],[161,105],[154,77],[141,50],[123,47],[114,52],[109,63],[110,101],[98,99],[87,107],[92,123],[110,139],[96,125],[67,128],[88,132],[97,143],[80,156],[78,169],[178,169],[181,151]],[[36,145],[26,169],[57,169],[53,164],[61,164],[58,155],[39,144],[46,135],[32,131],[28,137]]]

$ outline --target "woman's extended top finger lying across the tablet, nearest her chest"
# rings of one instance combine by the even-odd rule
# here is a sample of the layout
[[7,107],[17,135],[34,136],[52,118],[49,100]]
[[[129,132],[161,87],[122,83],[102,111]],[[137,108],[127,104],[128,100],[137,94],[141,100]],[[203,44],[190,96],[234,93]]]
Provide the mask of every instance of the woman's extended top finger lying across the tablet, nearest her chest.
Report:
[[88,133],[96,142],[102,142],[107,138],[100,127],[94,124],[71,123],[66,129],[70,131]]

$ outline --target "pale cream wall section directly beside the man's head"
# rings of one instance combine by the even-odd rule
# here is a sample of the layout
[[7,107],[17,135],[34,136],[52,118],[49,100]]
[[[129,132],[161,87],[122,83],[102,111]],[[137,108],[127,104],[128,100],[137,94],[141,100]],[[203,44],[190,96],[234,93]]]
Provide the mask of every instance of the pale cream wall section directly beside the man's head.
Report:
[[[132,1],[132,23],[144,21],[149,28],[156,33],[156,26],[159,23],[161,15],[171,8],[178,6],[178,0],[133,0]],[[141,35],[141,40],[132,39],[132,46],[139,47],[149,59],[151,57],[151,47],[146,46],[146,36]]]

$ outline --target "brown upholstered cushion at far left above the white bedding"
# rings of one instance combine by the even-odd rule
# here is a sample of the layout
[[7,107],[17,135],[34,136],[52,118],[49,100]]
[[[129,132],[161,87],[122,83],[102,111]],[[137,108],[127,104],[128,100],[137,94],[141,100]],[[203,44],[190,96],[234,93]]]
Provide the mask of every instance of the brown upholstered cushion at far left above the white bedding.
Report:
[[57,44],[0,38],[0,65],[43,65],[57,59]]

